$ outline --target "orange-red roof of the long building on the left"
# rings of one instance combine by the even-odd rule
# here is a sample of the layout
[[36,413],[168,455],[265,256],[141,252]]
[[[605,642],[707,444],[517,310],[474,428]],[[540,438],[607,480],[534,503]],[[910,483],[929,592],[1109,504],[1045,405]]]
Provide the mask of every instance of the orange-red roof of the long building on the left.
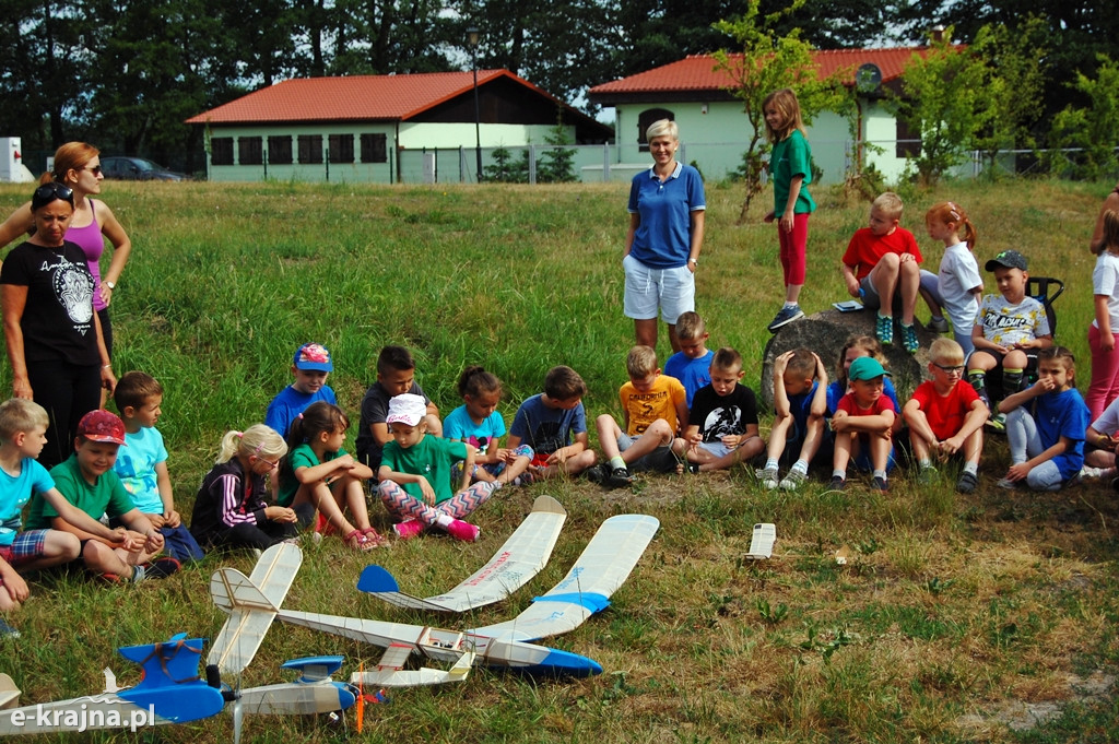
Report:
[[[478,85],[498,77],[510,77],[553,97],[506,69],[478,70]],[[472,88],[470,72],[290,79],[192,116],[187,123],[407,120]]]

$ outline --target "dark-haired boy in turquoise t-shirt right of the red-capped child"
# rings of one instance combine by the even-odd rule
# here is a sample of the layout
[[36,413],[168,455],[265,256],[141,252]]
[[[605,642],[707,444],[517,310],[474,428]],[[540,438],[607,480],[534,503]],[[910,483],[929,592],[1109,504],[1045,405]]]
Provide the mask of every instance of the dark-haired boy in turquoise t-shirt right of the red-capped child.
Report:
[[113,470],[137,509],[163,536],[167,553],[180,563],[201,561],[198,547],[182,518],[175,510],[171,477],[167,472],[167,448],[156,428],[162,413],[163,386],[151,375],[130,371],[116,382],[113,401],[124,422],[124,443]]

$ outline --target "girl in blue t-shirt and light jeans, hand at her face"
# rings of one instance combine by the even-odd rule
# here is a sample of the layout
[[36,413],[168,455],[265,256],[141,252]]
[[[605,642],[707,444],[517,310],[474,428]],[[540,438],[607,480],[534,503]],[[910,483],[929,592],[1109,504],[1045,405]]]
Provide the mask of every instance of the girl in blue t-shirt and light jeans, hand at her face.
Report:
[[1037,355],[1037,382],[998,404],[1007,414],[1010,469],[1003,488],[1025,482],[1034,491],[1056,491],[1084,464],[1088,406],[1076,389],[1076,360],[1056,346]]

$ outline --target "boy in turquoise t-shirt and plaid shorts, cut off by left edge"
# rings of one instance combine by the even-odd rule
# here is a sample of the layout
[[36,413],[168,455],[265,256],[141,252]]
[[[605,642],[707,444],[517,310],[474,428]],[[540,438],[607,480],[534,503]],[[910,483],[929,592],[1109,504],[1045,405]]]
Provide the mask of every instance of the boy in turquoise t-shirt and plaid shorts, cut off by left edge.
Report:
[[[76,536],[57,529],[20,531],[20,510],[31,496],[46,499],[59,514],[67,515],[102,537],[123,537],[95,519],[84,520],[63,498],[55,481],[36,458],[46,443],[49,418],[37,403],[12,398],[0,404],[0,612],[18,610],[28,597],[27,583],[17,573],[35,571],[77,558]],[[0,635],[16,631],[0,621]]]

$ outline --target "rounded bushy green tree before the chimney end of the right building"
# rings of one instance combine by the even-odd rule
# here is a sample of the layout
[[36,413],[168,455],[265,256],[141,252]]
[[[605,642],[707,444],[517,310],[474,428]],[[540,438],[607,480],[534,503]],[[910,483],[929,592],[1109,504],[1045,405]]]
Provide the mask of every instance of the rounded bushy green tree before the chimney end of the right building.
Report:
[[895,115],[920,132],[921,153],[913,162],[925,183],[967,159],[986,122],[984,65],[952,46],[951,36],[949,28],[932,39],[924,57],[913,55],[902,73],[902,94],[892,100]]

